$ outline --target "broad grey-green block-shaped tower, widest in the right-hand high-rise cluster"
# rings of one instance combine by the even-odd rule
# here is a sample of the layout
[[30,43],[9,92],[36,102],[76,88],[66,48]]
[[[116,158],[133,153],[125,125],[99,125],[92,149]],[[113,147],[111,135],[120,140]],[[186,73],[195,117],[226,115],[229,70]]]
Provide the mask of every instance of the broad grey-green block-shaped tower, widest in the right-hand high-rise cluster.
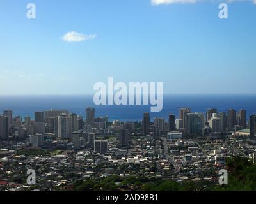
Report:
[[188,113],[188,133],[202,135],[204,122],[204,113]]

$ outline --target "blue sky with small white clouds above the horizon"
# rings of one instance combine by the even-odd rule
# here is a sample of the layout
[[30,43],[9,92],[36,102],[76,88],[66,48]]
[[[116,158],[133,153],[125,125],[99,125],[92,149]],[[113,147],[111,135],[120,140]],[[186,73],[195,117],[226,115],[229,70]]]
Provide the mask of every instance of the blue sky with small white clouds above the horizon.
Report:
[[1,0],[0,94],[93,94],[108,77],[254,94],[255,22],[253,0]]

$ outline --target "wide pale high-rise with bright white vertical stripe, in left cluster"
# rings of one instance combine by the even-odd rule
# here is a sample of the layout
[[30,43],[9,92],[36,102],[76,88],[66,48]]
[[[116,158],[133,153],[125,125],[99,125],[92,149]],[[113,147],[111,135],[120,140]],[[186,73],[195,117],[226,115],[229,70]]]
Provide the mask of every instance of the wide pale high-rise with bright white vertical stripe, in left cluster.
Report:
[[54,135],[61,139],[72,138],[70,117],[67,115],[54,117]]

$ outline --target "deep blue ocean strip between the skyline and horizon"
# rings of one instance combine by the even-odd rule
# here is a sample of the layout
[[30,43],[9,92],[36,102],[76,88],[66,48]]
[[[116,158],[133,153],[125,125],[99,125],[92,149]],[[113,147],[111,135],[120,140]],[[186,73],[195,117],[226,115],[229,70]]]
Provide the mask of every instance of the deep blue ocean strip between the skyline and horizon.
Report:
[[[93,103],[93,95],[44,95],[44,96],[0,96],[0,112],[13,110],[13,115],[34,118],[35,111],[65,109],[72,113],[85,115],[85,108],[95,108],[95,116],[108,115],[109,121],[140,121],[144,112],[150,112],[151,105],[99,105]],[[189,107],[192,112],[206,112],[208,108],[217,108],[218,112],[227,112],[234,108],[247,112],[247,118],[256,113],[256,94],[166,94],[163,97],[163,110],[151,112],[150,119],[168,114],[179,117],[179,108]]]

